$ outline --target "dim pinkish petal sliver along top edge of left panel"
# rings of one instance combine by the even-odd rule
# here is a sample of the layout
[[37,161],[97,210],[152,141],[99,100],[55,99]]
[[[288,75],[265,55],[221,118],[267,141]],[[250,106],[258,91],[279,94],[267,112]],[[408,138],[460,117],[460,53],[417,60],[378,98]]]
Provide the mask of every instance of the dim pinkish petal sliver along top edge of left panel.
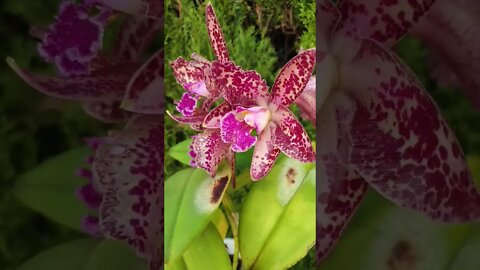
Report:
[[160,19],[163,16],[161,0],[84,0],[89,5],[101,5],[128,14]]

